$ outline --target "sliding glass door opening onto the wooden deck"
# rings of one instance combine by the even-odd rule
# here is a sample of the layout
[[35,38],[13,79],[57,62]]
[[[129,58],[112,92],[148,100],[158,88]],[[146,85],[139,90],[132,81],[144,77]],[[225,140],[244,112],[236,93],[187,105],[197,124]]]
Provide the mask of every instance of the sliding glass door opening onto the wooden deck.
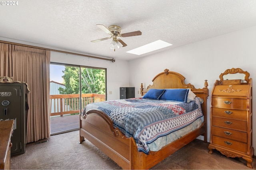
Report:
[[105,92],[105,68],[51,63],[51,135],[77,130],[79,113],[87,104],[106,100]]

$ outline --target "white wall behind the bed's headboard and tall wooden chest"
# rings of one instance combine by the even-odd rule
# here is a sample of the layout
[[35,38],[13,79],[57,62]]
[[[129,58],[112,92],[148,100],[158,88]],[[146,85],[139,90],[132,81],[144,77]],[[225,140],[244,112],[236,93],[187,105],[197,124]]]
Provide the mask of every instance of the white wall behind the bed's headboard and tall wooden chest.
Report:
[[[242,68],[256,81],[256,26],[228,33],[197,43],[178,47],[129,62],[130,85],[135,91],[152,85],[152,79],[165,68],[182,74],[185,83],[196,88],[204,87],[208,80],[208,141],[210,141],[210,107],[213,84],[229,68]],[[256,86],[253,86],[253,129],[256,128]],[[136,93],[136,97],[139,94]],[[256,148],[256,130],[253,130],[253,147]]]

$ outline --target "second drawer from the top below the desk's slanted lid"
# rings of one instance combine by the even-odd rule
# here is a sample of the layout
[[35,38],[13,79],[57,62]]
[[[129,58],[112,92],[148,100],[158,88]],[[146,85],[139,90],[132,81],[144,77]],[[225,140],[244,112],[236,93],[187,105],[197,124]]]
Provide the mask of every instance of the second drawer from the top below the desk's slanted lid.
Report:
[[222,109],[218,107],[212,107],[212,116],[220,116],[247,121],[246,110]]

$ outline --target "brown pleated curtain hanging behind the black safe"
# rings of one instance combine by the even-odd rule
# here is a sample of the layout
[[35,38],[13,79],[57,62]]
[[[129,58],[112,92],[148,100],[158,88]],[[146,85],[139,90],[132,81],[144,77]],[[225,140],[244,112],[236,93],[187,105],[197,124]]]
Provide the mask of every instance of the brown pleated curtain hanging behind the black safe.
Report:
[[0,76],[30,89],[26,142],[50,137],[50,51],[0,43]]

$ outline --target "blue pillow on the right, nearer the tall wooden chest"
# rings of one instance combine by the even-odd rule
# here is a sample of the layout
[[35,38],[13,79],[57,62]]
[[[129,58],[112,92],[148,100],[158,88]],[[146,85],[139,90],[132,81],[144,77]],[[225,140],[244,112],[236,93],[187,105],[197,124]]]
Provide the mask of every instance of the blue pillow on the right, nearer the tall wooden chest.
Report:
[[188,100],[189,89],[166,89],[159,100],[168,100],[173,102],[184,102]]

